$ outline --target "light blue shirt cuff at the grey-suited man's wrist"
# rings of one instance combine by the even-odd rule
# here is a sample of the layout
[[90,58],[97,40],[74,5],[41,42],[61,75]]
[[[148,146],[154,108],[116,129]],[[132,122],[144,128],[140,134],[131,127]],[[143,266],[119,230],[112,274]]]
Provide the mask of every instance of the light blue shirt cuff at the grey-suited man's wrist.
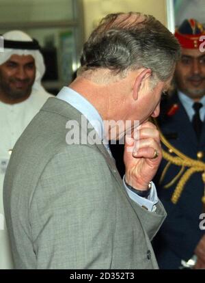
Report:
[[131,189],[128,189],[128,187],[124,182],[124,177],[123,177],[123,183],[128,193],[128,196],[131,198],[131,200],[133,200],[140,206],[146,207],[148,211],[154,212],[156,210],[156,204],[157,202],[159,202],[159,198],[157,196],[156,187],[153,182],[151,182],[150,195],[148,196],[148,198],[142,198],[138,196],[137,193],[134,193],[134,191],[131,191]]

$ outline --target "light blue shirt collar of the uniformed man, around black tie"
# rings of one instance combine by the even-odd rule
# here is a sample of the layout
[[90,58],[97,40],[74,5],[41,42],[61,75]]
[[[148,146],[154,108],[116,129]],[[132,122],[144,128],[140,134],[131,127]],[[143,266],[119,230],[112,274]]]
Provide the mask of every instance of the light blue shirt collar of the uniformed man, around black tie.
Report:
[[[184,109],[187,112],[187,115],[189,116],[189,120],[192,121],[193,115],[195,114],[195,111],[193,109],[193,99],[189,98],[186,94],[183,94],[178,90],[178,98],[180,99],[180,102],[184,106]],[[204,121],[205,116],[205,96],[203,96],[200,101],[202,103],[203,107],[200,109],[200,119]]]

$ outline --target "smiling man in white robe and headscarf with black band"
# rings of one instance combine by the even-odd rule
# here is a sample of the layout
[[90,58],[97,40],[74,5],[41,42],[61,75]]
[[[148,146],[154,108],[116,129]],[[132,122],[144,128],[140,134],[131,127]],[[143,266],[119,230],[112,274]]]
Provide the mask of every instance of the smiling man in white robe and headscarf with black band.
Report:
[[51,96],[40,81],[45,66],[40,46],[23,31],[3,34],[0,52],[0,269],[12,269],[3,212],[3,179],[18,137]]

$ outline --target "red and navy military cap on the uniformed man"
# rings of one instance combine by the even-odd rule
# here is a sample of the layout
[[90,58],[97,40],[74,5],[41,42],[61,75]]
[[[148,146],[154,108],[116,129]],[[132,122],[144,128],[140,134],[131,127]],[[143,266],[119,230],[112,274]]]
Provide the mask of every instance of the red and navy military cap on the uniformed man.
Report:
[[174,33],[174,36],[180,42],[182,48],[185,49],[199,49],[201,36],[205,36],[205,29],[203,25],[193,18],[184,20]]

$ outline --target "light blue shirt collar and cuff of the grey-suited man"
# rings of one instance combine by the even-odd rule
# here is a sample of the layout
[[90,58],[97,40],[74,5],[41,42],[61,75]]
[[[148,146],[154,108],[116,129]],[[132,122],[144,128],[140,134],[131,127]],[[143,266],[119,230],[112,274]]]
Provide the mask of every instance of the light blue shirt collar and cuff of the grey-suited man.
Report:
[[[66,101],[66,103],[69,103],[77,109],[79,112],[83,114],[87,118],[87,120],[92,124],[94,127],[96,133],[98,133],[100,139],[103,139],[103,121],[96,110],[96,108],[83,96],[72,90],[70,87],[63,87],[59,94],[57,94],[57,98]],[[124,183],[124,178],[123,178]],[[137,202],[140,206],[146,206],[148,208],[148,211],[155,211],[156,206],[155,204],[159,201],[156,193],[156,187],[154,183],[152,183],[152,187],[150,190],[150,196],[148,198],[141,198],[137,195],[137,193],[134,193],[128,187],[126,187],[124,183],[124,187],[128,193],[128,196],[134,201]]]

